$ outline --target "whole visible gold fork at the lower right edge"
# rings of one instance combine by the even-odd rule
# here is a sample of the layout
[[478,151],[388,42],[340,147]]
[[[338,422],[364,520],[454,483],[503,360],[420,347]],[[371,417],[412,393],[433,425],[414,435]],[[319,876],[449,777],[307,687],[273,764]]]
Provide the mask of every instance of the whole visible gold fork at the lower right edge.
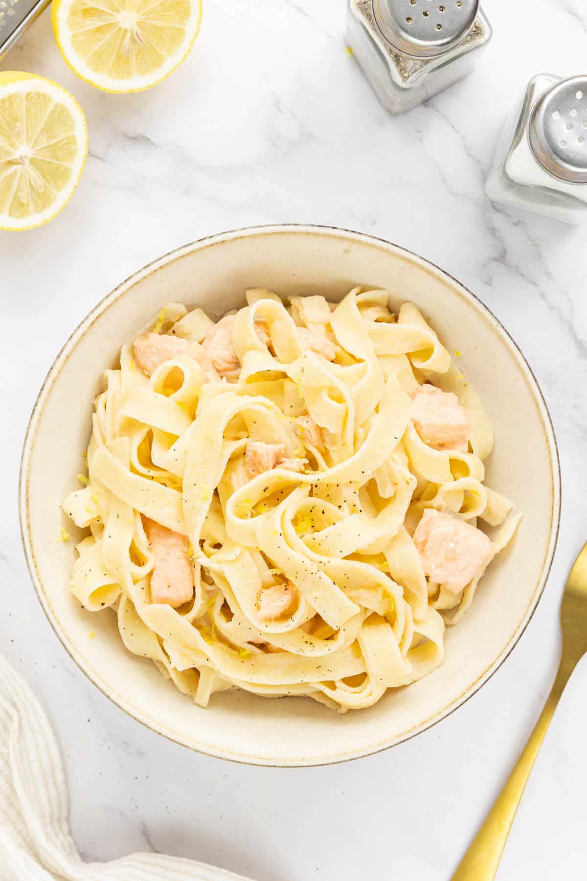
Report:
[[452,881],[492,881],[525,785],[561,694],[587,651],[587,544],[575,560],[561,604],[562,655],[552,691],[510,778],[473,839]]

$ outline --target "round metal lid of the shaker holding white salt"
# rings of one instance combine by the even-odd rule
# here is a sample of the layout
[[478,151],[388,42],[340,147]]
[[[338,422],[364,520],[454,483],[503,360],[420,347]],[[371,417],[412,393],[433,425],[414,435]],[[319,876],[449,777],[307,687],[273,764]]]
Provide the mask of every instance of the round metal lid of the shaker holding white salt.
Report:
[[563,79],[542,95],[529,135],[547,172],[561,181],[587,183],[587,76]]

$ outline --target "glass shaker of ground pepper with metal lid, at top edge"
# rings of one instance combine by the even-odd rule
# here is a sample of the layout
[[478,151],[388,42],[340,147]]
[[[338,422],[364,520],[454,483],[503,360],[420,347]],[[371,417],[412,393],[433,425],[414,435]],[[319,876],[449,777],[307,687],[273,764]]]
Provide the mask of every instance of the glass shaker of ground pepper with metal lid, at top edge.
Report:
[[479,0],[348,2],[349,48],[393,115],[468,76],[491,39]]

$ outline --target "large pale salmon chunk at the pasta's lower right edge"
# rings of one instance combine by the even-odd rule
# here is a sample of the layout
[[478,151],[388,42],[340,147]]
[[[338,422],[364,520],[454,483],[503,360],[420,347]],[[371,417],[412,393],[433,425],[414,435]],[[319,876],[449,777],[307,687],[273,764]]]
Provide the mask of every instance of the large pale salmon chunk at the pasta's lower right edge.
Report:
[[432,507],[415,529],[414,544],[424,573],[455,594],[481,574],[492,548],[481,529]]

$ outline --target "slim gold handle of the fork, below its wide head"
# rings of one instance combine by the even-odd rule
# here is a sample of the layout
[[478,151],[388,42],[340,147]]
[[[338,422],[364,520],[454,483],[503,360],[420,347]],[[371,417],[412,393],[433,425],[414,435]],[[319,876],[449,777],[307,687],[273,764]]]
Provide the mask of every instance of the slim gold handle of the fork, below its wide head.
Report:
[[539,715],[532,734],[525,745],[517,765],[497,797],[495,804],[476,834],[467,850],[459,868],[452,876],[452,881],[493,881],[499,861],[502,858],[505,842],[508,840],[511,824],[516,816],[517,805],[524,793],[525,785],[530,777],[532,766],[542,741],[547,733],[548,725],[554,715],[561,694],[569,680],[570,670],[559,667],[552,691],[547,703]]

